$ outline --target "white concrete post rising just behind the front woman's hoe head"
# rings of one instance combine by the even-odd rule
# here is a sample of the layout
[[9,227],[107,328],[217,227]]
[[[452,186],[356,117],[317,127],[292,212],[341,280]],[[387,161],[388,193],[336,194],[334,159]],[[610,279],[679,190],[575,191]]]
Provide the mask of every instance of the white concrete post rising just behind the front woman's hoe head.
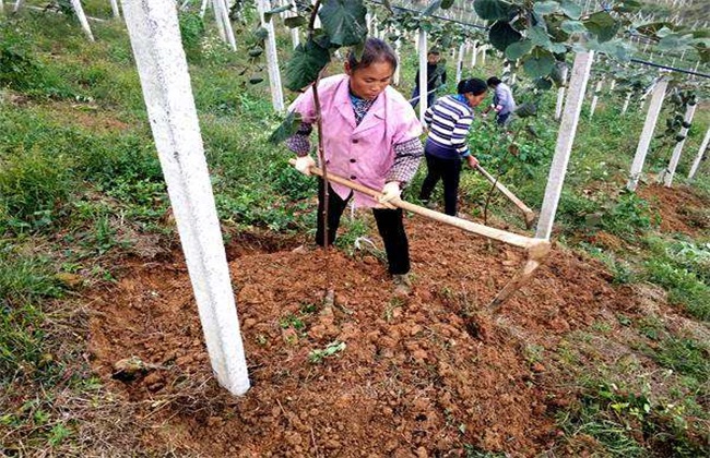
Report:
[[545,197],[540,210],[540,218],[537,219],[535,237],[539,239],[549,240],[553,232],[553,222],[555,222],[557,204],[559,203],[563,184],[565,183],[567,164],[569,162],[569,155],[575,143],[579,114],[582,110],[584,92],[587,91],[587,83],[589,82],[589,73],[592,70],[593,60],[594,51],[578,52],[575,56],[572,75],[569,81],[569,94],[565,101],[565,113],[563,114],[563,121],[559,124],[559,131],[557,133],[555,157],[549,167]]

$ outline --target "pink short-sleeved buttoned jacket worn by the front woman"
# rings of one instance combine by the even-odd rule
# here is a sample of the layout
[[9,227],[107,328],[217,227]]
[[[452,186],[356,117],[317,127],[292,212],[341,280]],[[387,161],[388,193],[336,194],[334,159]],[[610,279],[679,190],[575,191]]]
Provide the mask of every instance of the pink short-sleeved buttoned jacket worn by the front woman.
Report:
[[[392,87],[377,97],[359,125],[350,99],[350,76],[329,76],[318,84],[323,119],[323,148],[328,171],[381,190],[394,164],[394,145],[422,134],[422,124],[406,99]],[[316,123],[313,94],[309,88],[288,107],[304,122]],[[343,200],[351,189],[331,183]],[[377,201],[355,192],[356,206],[374,207]]]

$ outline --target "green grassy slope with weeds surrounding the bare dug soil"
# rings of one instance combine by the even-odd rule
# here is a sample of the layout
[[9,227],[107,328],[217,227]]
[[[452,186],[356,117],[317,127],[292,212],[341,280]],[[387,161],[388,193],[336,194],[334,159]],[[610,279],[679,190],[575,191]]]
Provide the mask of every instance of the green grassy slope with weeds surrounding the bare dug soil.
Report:
[[[110,15],[105,2],[86,3],[88,14]],[[130,45],[125,29],[111,23],[93,24],[96,44],[86,43],[78,25],[62,16],[24,12],[0,24],[3,56],[22,65],[2,73],[0,92],[0,436],[7,438],[3,444],[31,454],[102,447],[126,451],[132,445],[105,436],[102,422],[107,419],[90,407],[98,406],[109,417],[121,408],[103,393],[84,357],[87,309],[81,291],[111,281],[117,260],[168,251],[176,242]],[[186,45],[225,237],[253,227],[309,230],[305,209],[312,203],[304,197],[312,194],[312,183],[285,167],[283,148],[264,142],[265,132],[279,122],[267,85],[245,85],[238,76],[244,61],[226,51],[213,32],[200,41],[200,34],[186,27],[188,35],[194,34]],[[282,38],[281,49],[289,49],[287,38]],[[414,58],[404,59],[405,94],[414,64]],[[498,65],[490,59],[485,72],[476,69],[471,75],[488,76]],[[529,97],[519,93],[521,100]],[[505,141],[488,124],[478,122],[472,135],[472,147],[484,164],[500,170],[504,181],[534,208],[542,201],[556,136],[547,114],[554,94],[543,101],[542,114],[531,121],[539,138],[521,134],[518,158],[505,154]],[[580,123],[556,238],[601,257],[617,282],[650,281],[665,288],[672,303],[707,332],[708,233],[696,240],[661,234],[647,203],[619,192],[642,118],[635,111],[620,118],[618,105],[606,99],[593,122]],[[695,154],[708,122],[708,110],[700,110],[686,152]],[[649,170],[661,170],[668,155],[667,148],[656,148]],[[686,157],[681,164],[681,174],[688,161]],[[485,202],[488,185],[480,177],[468,172],[462,183],[465,200]],[[710,198],[707,170],[695,185]],[[520,225],[500,201],[494,201],[492,210]],[[353,230],[366,228],[354,225]],[[587,236],[599,231],[623,243],[615,249],[595,245]],[[644,382],[638,364],[631,370],[620,362],[610,366],[593,349],[612,340],[610,328],[618,323],[599,323],[570,336],[568,347],[544,355],[568,362],[579,381],[580,403],[559,419],[569,446],[573,449],[591,436],[606,454],[643,455],[626,429],[641,422],[677,438],[672,443],[678,454],[693,451],[684,427],[695,419],[708,420],[707,341],[698,338],[701,334],[671,326],[663,316],[615,320],[632,334],[636,358],[652,359],[659,371],[673,373],[660,387]],[[79,437],[82,422],[94,424],[96,436]]]

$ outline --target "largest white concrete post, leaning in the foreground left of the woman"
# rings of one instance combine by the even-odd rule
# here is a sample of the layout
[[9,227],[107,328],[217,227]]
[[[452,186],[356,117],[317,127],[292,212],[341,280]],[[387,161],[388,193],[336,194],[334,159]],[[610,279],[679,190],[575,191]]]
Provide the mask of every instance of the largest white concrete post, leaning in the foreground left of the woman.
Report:
[[155,146],[167,182],[217,382],[249,389],[239,320],[174,0],[122,0]]

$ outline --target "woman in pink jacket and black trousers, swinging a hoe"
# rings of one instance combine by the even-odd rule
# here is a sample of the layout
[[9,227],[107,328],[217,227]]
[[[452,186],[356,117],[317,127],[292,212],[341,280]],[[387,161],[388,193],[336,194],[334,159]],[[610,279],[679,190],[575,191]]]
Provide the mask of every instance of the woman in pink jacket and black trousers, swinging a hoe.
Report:
[[[410,291],[410,249],[400,208],[382,204],[399,197],[412,180],[424,155],[419,135],[422,124],[407,100],[389,87],[397,69],[397,57],[384,41],[368,38],[360,60],[350,52],[345,74],[329,76],[318,84],[322,114],[322,138],[329,172],[369,188],[382,190],[380,202],[351,189],[329,183],[329,244],[335,240],[340,218],[351,198],[356,206],[372,208],[384,242],[389,272],[397,293]],[[298,132],[287,140],[296,153],[296,169],[310,174],[315,165],[309,155],[309,135],[316,122],[312,89],[301,94],[289,107],[303,117]],[[318,193],[316,243],[324,244],[323,181]]]

